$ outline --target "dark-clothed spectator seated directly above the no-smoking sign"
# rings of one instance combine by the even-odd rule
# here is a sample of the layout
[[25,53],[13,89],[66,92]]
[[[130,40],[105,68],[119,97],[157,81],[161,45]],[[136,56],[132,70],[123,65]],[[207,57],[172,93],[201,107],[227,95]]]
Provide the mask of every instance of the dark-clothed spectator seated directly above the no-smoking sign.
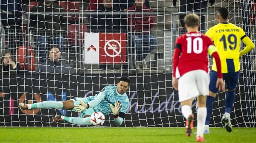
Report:
[[[98,12],[120,11],[119,6],[113,5],[113,0],[103,0],[98,3]],[[122,17],[122,19],[121,19]],[[127,31],[127,20],[125,15],[120,14],[97,14],[91,15],[91,32],[120,33]]]

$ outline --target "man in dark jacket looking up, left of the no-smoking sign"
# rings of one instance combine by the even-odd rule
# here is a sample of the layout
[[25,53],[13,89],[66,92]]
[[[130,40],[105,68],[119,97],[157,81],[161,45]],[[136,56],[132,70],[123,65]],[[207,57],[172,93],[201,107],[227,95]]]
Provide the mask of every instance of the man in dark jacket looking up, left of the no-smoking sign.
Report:
[[53,46],[49,50],[49,59],[40,64],[37,71],[44,73],[73,74],[69,66],[61,61],[61,52],[56,46]]

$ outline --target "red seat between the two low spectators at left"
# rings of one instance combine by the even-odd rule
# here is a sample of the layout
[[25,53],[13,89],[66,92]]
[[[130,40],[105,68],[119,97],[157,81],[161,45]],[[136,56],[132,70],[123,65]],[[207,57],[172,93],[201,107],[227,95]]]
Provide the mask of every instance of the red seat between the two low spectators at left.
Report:
[[[29,54],[27,54],[29,52]],[[19,46],[17,51],[17,62],[20,64],[22,70],[35,71],[35,59],[32,47]]]

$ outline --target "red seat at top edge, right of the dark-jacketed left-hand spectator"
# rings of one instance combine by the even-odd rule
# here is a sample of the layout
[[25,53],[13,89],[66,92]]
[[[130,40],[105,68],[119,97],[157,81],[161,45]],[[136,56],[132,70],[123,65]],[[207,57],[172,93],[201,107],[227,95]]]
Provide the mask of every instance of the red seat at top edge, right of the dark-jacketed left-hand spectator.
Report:
[[[77,2],[60,2],[60,6],[67,12],[79,12],[79,3]],[[79,21],[79,14],[68,15],[67,20],[70,23],[75,24],[75,21]]]

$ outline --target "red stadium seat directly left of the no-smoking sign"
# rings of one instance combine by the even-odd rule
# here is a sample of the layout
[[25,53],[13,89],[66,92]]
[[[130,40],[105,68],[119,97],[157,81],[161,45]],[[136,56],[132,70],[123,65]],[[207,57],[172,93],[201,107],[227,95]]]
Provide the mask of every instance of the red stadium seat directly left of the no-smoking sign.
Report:
[[[79,29],[80,28],[80,29]],[[87,25],[68,25],[68,45],[76,45],[76,42],[83,42],[84,33],[87,31]]]

